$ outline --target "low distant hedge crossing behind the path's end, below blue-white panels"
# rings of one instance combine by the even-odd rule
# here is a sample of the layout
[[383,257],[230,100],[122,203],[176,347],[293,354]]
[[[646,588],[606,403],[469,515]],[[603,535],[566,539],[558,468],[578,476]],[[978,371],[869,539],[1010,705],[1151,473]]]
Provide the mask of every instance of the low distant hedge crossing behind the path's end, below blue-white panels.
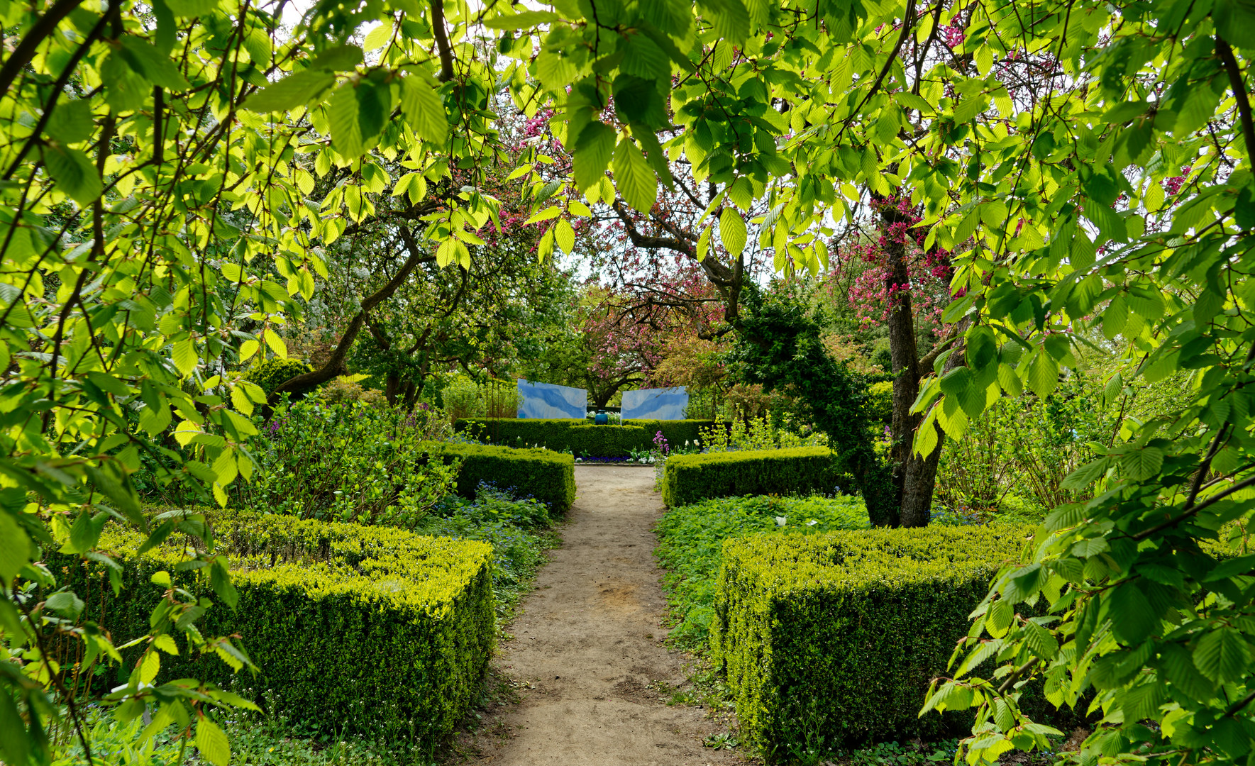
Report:
[[713,420],[630,420],[622,425],[591,425],[576,417],[463,417],[453,424],[453,430],[505,446],[543,446],[555,451],[570,450],[580,456],[625,458],[629,450],[653,449],[659,431],[671,446],[683,446],[685,441],[700,439],[699,429],[713,425]]

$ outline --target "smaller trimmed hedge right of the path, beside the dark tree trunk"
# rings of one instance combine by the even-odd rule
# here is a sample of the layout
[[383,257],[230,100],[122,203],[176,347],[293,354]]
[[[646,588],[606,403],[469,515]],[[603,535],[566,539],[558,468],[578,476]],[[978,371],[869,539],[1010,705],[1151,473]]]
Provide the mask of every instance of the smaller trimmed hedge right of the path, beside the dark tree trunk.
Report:
[[675,455],[663,469],[669,508],[735,495],[831,494],[843,476],[826,446]]

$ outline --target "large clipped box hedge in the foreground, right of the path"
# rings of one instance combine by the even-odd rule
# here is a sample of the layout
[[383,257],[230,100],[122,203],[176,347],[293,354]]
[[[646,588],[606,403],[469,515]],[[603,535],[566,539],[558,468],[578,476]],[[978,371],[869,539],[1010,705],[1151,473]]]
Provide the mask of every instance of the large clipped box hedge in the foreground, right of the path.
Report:
[[968,614],[1030,527],[752,535],[724,543],[712,649],[742,730],[796,743],[936,737],[970,715],[917,717]]

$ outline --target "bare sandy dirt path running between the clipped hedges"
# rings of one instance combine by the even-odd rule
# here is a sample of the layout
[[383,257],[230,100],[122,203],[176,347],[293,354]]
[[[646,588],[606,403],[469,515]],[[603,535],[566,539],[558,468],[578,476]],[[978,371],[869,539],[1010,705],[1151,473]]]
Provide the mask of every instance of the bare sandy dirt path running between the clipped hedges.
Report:
[[727,731],[707,711],[668,706],[690,659],[663,646],[666,601],[654,560],[663,503],[654,471],[577,466],[563,544],[510,626],[496,671],[520,688],[489,710],[469,761],[493,766],[703,766],[744,762],[703,747]]

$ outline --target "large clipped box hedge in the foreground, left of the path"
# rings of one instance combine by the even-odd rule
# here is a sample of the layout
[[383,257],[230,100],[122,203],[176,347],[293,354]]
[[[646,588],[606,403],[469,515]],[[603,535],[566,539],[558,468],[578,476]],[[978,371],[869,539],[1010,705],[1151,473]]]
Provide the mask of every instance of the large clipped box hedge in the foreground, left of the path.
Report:
[[[240,601],[235,611],[212,607],[202,631],[242,637],[260,671],[255,690],[271,690],[286,713],[329,733],[366,728],[376,736],[417,736],[415,745],[430,751],[452,731],[493,652],[488,543],[286,515],[208,513]],[[99,621],[122,644],[148,632],[149,612],[163,593],[151,582],[153,573],[166,570],[177,584],[192,585],[195,573],[177,570],[177,537],[136,555],[143,537],[105,530],[100,548],[123,565],[117,598],[102,588],[99,572],[77,565],[77,557],[53,553],[48,563],[67,567],[64,584],[80,593],[90,588],[84,617]],[[179,648],[178,656],[162,656],[158,679],[230,679],[223,662]],[[248,673],[238,679],[250,682]]]

